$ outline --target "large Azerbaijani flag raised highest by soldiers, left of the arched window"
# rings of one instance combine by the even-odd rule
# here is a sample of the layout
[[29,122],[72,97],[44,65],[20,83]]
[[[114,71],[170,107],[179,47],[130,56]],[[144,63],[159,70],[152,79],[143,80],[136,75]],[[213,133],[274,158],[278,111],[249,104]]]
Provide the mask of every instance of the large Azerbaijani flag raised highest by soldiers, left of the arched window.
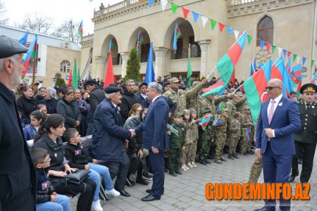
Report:
[[243,32],[243,34],[235,41],[235,44],[231,46],[225,55],[218,60],[216,63],[216,67],[218,72],[220,73],[221,78],[223,79],[224,84],[217,89],[212,89],[201,96],[209,96],[211,94],[215,94],[218,91],[222,90],[227,86],[227,84],[232,79],[233,71],[235,70],[235,65],[237,65],[237,60],[239,60],[242,50],[244,48],[245,41],[247,39],[247,32]]

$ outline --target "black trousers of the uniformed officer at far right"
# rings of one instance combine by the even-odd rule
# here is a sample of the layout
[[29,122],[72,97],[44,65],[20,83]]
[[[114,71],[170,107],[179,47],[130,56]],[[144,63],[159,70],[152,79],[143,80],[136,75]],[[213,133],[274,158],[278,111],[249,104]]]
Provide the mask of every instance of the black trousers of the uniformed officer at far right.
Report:
[[313,171],[313,156],[316,151],[316,143],[302,143],[295,141],[296,155],[292,158],[292,176],[298,176],[298,158],[303,153],[303,165],[300,180],[302,183],[307,183],[311,178],[311,172]]

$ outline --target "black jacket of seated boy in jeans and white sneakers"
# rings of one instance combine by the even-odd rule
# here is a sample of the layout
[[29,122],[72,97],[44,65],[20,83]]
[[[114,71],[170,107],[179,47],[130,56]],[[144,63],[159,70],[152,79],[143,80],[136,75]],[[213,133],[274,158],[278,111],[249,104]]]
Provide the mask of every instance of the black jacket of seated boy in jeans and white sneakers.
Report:
[[77,168],[79,170],[85,170],[85,165],[88,162],[92,162],[92,158],[82,150],[80,143],[77,145],[72,143],[67,143],[65,147],[65,158],[68,160],[68,165],[72,168]]

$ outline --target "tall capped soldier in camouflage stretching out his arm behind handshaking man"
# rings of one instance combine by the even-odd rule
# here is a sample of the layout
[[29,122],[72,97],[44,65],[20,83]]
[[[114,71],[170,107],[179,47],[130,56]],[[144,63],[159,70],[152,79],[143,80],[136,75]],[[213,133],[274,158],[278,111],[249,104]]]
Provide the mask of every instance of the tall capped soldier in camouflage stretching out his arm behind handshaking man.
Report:
[[204,84],[206,84],[207,79],[203,79],[199,84],[197,84],[192,89],[182,90],[178,89],[180,87],[180,80],[177,77],[170,79],[170,90],[166,91],[163,96],[170,98],[173,102],[177,103],[178,108],[176,108],[175,113],[181,113],[182,110],[187,108],[186,101],[191,98],[201,90]]

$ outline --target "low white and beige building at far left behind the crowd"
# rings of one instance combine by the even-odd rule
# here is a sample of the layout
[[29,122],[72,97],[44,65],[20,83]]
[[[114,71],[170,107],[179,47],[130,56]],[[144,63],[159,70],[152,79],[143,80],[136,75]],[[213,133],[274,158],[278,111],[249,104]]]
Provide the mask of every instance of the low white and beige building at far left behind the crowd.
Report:
[[[0,35],[19,40],[25,34],[25,30],[6,25],[0,25]],[[35,33],[30,32],[27,36],[27,44],[35,39]],[[66,84],[73,70],[74,60],[77,60],[77,68],[80,69],[80,46],[75,42],[65,41],[44,34],[37,35],[37,64],[35,68],[35,81],[41,87],[54,87],[56,73],[61,73]],[[25,82],[32,84],[33,61],[27,68]]]

